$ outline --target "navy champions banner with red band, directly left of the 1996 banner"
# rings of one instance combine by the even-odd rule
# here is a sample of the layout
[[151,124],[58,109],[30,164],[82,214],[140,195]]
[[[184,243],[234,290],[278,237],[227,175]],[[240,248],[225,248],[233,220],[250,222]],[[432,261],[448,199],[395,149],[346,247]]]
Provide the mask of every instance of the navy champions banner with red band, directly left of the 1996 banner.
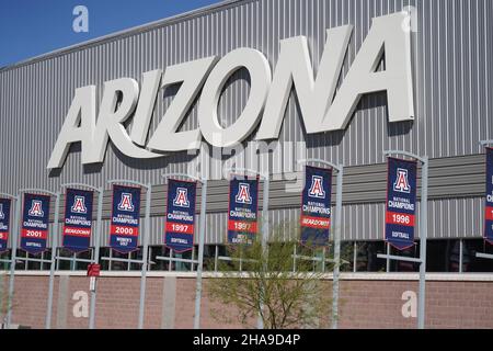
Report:
[[326,246],[331,228],[332,169],[305,167],[301,245]]

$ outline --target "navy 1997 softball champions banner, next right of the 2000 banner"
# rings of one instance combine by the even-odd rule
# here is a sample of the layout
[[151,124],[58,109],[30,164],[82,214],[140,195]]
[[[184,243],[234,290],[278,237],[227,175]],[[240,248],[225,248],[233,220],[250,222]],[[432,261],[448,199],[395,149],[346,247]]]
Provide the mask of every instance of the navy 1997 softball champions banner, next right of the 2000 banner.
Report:
[[179,253],[194,248],[196,189],[196,182],[168,182],[164,245]]

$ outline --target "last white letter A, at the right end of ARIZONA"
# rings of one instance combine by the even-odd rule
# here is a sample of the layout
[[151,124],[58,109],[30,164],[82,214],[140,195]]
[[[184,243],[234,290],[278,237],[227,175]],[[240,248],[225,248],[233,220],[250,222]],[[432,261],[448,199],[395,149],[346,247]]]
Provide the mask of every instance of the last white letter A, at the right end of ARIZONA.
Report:
[[[403,27],[408,16],[399,12],[374,19],[319,132],[345,129],[359,99],[378,91],[387,91],[390,122],[414,120],[411,33]],[[386,68],[376,71],[383,53]]]

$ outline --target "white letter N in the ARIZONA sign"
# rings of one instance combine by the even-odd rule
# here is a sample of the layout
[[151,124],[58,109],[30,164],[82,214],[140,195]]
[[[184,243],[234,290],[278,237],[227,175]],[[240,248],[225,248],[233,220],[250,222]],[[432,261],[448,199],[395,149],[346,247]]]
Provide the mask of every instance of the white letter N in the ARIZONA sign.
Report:
[[349,25],[326,31],[317,79],[313,79],[307,37],[296,36],[280,41],[279,59],[265,103],[265,118],[256,134],[257,140],[279,136],[293,86],[307,133],[321,132],[320,122],[334,97],[352,31]]

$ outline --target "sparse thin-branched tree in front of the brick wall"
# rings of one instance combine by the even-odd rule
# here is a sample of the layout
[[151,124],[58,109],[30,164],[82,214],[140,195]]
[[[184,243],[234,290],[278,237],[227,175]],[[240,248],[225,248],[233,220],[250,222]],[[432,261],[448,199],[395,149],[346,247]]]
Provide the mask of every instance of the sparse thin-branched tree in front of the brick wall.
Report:
[[[229,247],[231,261],[220,263],[219,274],[208,282],[211,299],[236,307],[238,321],[245,327],[253,327],[257,316],[266,329],[328,327],[332,290],[323,280],[325,273],[311,260],[297,260],[294,267],[295,246],[299,256],[313,257],[313,250],[286,241],[282,231],[270,241],[267,250],[260,239]],[[223,308],[213,312],[222,322],[233,321]]]

